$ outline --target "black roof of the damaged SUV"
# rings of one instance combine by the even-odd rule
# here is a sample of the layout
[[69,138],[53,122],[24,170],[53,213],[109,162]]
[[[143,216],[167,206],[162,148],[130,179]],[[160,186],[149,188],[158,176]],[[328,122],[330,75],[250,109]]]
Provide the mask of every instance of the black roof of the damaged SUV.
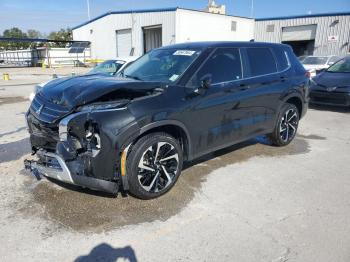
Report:
[[236,41],[205,41],[205,42],[188,42],[181,44],[174,44],[169,46],[163,46],[159,49],[167,49],[167,48],[184,48],[184,49],[205,49],[208,47],[266,47],[266,46],[285,46],[283,44],[277,43],[265,43],[265,42],[236,42]]

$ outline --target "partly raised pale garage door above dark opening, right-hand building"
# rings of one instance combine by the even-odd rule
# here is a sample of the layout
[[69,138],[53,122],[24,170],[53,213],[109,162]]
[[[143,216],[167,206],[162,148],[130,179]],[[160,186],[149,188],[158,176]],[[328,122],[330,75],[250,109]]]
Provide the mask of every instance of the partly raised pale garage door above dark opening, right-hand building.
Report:
[[314,40],[317,25],[289,26],[282,28],[282,41]]

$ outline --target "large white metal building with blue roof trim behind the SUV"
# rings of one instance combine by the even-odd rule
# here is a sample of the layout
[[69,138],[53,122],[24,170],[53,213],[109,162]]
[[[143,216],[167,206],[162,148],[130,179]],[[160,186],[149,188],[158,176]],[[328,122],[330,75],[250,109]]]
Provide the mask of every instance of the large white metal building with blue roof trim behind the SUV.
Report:
[[160,46],[193,41],[249,41],[254,19],[184,8],[116,11],[73,28],[91,42],[91,58],[140,56]]

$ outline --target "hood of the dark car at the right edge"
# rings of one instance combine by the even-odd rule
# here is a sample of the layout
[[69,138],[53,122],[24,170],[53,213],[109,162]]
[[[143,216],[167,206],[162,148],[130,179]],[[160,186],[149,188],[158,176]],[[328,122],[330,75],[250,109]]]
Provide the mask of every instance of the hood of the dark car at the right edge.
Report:
[[350,86],[350,73],[322,72],[314,78],[314,81],[324,87]]

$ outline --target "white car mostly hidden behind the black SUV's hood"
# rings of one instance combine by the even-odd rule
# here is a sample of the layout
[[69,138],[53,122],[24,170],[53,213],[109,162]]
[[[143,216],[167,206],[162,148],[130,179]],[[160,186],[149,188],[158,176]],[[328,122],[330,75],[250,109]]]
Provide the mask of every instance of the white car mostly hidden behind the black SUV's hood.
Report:
[[[87,75],[105,74],[105,75],[114,76],[118,72],[121,72],[125,67],[130,65],[132,62],[134,62],[137,58],[138,58],[138,56],[128,56],[128,57],[106,60],[106,61],[102,62],[101,64],[98,64],[97,66],[95,66],[93,69],[91,69],[86,74]],[[52,80],[54,80],[54,79],[51,79],[47,82],[40,83],[40,84],[34,86],[33,91],[29,95],[29,100],[32,101],[34,99],[36,93],[38,93],[41,88],[43,88],[45,85],[47,85]]]

